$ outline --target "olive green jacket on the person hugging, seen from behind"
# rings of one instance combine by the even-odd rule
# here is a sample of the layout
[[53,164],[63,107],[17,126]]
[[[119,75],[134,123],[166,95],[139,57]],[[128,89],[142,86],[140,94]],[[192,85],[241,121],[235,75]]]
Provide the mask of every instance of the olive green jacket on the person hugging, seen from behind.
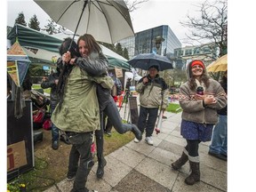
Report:
[[[99,77],[100,78],[100,77]],[[52,113],[52,123],[68,132],[100,129],[100,109],[96,95],[97,78],[75,66],[68,76],[62,107]]]

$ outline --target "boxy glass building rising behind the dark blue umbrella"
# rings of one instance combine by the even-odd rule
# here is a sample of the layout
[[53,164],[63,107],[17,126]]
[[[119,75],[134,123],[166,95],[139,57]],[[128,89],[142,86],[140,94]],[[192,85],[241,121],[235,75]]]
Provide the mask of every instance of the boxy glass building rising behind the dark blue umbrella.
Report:
[[[157,36],[162,37],[162,39],[164,38],[159,48],[156,48]],[[127,48],[130,59],[140,53],[174,54],[174,49],[181,48],[180,40],[167,25],[140,31],[135,36],[125,38],[119,43],[122,44],[123,48]]]

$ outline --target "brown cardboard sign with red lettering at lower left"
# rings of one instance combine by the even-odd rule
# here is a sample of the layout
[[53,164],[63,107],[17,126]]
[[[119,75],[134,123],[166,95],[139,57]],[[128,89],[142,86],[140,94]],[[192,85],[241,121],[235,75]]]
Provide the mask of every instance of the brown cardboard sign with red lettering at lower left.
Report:
[[7,146],[7,172],[26,164],[28,163],[24,140]]

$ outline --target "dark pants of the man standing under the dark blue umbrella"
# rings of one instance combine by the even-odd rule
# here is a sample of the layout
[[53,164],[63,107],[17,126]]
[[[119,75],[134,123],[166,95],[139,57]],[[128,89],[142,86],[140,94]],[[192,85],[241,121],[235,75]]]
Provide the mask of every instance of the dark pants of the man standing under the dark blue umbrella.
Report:
[[[154,132],[158,108],[144,108],[140,106],[140,116],[138,120],[138,128],[143,133],[146,128],[146,137],[151,137]],[[147,121],[148,117],[148,121]]]

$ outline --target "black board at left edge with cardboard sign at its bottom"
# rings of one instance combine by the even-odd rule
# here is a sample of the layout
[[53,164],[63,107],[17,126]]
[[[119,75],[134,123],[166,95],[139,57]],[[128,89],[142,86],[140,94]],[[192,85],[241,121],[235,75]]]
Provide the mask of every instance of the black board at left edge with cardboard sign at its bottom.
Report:
[[[23,116],[14,116],[15,101],[7,100],[7,180],[33,169],[32,102],[25,100]],[[6,156],[6,155],[5,155]]]

